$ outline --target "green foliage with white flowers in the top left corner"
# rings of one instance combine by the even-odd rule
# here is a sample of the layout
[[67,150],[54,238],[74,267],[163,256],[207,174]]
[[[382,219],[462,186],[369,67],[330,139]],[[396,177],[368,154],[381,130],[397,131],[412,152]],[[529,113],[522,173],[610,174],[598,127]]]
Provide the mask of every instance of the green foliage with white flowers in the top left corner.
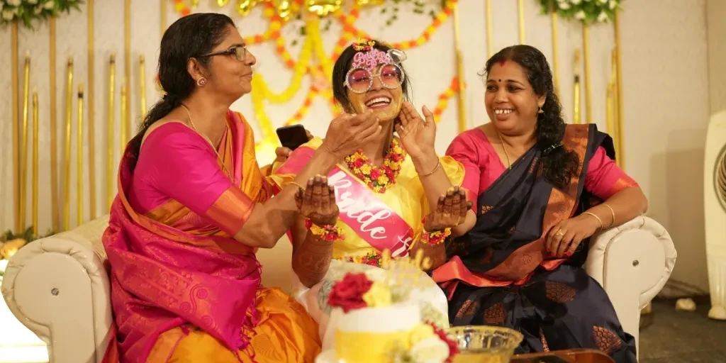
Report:
[[81,11],[82,0],[0,0],[0,25],[22,22],[33,29],[33,20],[58,17],[70,9]]

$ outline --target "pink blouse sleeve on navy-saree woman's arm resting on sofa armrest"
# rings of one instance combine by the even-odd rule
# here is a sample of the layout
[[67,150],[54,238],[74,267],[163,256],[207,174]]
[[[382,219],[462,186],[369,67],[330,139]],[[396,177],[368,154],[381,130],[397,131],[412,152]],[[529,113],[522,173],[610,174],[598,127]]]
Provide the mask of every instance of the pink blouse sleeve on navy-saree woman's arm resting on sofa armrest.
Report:
[[603,147],[598,147],[595,155],[592,155],[590,166],[587,167],[585,189],[598,198],[607,200],[616,192],[635,186],[637,182],[625,174],[615,160],[608,157]]

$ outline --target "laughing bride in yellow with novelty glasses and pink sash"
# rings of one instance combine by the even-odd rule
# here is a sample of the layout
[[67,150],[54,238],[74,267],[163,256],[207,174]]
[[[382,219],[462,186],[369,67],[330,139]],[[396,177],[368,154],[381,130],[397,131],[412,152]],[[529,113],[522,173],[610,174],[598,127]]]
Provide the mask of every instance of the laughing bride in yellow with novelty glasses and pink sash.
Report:
[[[444,239],[457,234],[455,227],[470,206],[458,187],[464,168],[436,155],[433,114],[423,107],[424,119],[405,101],[409,80],[404,60],[403,52],[378,41],[357,41],[333,68],[333,94],[343,107],[343,118],[375,115],[383,132],[325,173],[329,188],[306,190],[330,195],[330,203],[322,206],[330,213],[310,219],[301,213],[289,232],[295,272],[292,295],[319,322],[324,350],[333,337],[327,294],[335,280],[346,272],[379,267],[384,250],[398,258],[429,245],[443,248]],[[277,168],[273,181],[278,187],[294,183],[324,147],[319,138],[298,147]],[[430,281],[415,300],[425,319],[448,326],[446,297]]]

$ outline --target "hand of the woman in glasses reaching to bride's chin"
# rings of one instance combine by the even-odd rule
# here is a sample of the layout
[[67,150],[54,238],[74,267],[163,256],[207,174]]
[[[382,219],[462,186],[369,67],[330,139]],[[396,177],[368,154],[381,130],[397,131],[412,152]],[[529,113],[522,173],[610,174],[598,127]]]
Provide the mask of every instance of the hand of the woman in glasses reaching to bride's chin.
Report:
[[381,129],[372,110],[358,115],[343,113],[330,122],[320,147],[342,159],[380,136]]

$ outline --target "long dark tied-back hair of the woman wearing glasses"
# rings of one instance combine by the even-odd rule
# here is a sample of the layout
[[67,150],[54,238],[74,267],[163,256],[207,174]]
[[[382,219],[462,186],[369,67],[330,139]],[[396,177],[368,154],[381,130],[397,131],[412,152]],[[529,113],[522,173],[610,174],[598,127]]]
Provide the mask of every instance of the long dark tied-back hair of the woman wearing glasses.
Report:
[[[181,102],[192,94],[195,80],[187,71],[189,58],[210,53],[227,36],[229,26],[234,22],[227,15],[217,13],[197,13],[179,18],[166,29],[161,38],[158,76],[159,83],[166,94],[151,107],[144,121],[139,125],[139,133],[131,139],[131,169],[139,159],[139,150],[144,134],[153,123],[164,118]],[[197,58],[201,65],[208,65],[208,57]]]

